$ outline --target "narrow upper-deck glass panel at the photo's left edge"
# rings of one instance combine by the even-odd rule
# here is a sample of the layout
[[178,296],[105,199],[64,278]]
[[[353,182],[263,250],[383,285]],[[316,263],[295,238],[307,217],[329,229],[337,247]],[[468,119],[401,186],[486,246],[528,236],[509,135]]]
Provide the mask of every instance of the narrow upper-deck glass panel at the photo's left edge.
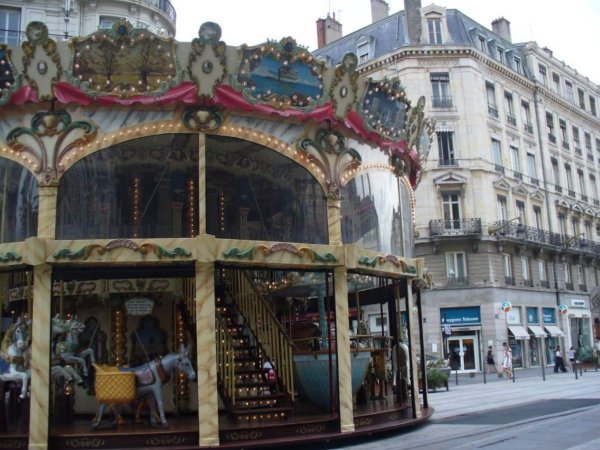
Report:
[[0,158],[0,243],[24,241],[37,234],[38,185],[33,174]]

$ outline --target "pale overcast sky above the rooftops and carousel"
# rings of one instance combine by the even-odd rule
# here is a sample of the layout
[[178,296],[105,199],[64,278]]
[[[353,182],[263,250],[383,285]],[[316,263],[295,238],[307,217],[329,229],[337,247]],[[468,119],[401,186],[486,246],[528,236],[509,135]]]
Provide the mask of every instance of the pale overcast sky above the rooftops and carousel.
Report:
[[[292,36],[309,50],[317,47],[315,21],[336,14],[349,34],[371,22],[370,0],[171,0],[177,11],[179,41],[198,37],[204,22],[217,22],[228,45],[261,44]],[[389,0],[390,13],[404,9]],[[600,83],[600,0],[437,0],[491,28],[505,17],[513,42],[536,41],[593,82]],[[422,6],[431,4],[421,0]]]

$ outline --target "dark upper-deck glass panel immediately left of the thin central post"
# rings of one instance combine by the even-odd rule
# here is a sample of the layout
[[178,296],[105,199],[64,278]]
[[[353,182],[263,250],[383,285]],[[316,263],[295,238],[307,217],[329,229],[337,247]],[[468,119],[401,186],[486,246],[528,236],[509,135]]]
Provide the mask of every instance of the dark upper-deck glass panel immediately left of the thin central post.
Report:
[[76,163],[58,191],[58,239],[193,237],[198,139],[165,134],[124,142]]

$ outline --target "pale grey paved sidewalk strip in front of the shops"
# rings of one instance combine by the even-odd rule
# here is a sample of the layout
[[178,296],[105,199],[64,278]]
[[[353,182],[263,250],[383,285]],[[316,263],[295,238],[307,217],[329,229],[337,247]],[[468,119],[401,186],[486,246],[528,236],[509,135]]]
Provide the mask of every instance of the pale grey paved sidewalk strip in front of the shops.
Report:
[[435,409],[433,421],[456,417],[474,412],[516,406],[537,400],[547,399],[600,399],[600,370],[578,373],[554,373],[546,371],[546,381],[542,379],[541,368],[517,369],[516,379],[511,380],[488,376],[483,383],[483,375],[455,374],[449,379],[449,391],[445,389],[429,392],[429,405]]

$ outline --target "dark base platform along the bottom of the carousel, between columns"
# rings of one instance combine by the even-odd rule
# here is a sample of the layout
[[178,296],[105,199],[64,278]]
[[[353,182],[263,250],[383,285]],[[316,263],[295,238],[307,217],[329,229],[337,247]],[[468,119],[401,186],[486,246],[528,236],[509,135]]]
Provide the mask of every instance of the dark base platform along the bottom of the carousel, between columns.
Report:
[[[374,399],[355,407],[355,431],[339,432],[339,419],[323,413],[296,413],[287,420],[277,422],[234,422],[227,416],[219,417],[218,448],[264,448],[311,442],[333,441],[351,437],[373,435],[389,431],[402,431],[425,422],[433,408],[423,408],[422,417],[414,418],[410,402],[402,405],[392,396]],[[198,416],[186,414],[168,416],[169,427],[150,428],[147,423],[129,422],[112,428],[108,421],[98,429],[91,427],[92,418],[76,416],[65,424],[52,426],[50,449],[197,449]],[[27,448],[27,434],[0,434],[0,448]],[[9,445],[9,447],[6,447]]]

